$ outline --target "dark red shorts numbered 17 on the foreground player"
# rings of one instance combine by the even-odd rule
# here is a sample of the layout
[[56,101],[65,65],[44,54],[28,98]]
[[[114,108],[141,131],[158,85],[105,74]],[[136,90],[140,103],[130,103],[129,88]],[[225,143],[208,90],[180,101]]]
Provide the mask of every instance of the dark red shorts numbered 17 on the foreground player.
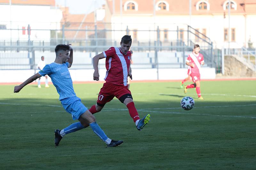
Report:
[[[120,97],[131,94],[131,91],[127,86],[118,86],[112,83],[104,83],[103,87],[100,89],[97,103],[104,105],[110,102],[114,97],[120,100]],[[128,96],[129,97],[129,96]]]

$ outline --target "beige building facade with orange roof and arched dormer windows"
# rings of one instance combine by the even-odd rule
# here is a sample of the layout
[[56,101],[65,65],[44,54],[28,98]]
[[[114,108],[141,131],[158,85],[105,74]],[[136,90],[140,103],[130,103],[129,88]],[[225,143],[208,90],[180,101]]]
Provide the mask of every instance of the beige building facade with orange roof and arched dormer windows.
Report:
[[[256,0],[230,0],[230,29],[228,0],[107,0],[105,21],[112,29],[129,29],[133,39],[147,41],[156,39],[161,30],[161,40],[182,39],[198,41],[196,32],[187,34],[188,25],[209,37],[214,48],[248,47],[252,41],[256,47]],[[191,15],[190,15],[191,14]],[[179,30],[179,35],[174,31]],[[142,31],[144,30],[144,31]],[[166,32],[164,32],[166,30]],[[168,30],[168,31],[167,31]],[[182,33],[181,30],[184,30]],[[120,35],[119,35],[120,34]],[[112,33],[119,39],[124,32]]]

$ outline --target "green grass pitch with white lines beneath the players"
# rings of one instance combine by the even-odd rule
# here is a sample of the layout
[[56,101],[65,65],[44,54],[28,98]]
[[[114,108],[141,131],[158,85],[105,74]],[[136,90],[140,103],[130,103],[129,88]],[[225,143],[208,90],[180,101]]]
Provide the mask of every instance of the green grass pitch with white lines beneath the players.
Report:
[[[188,83],[187,83],[188,84]],[[138,131],[118,99],[94,114],[109,138],[124,140],[106,148],[90,127],[66,135],[54,147],[54,130],[74,123],[53,85],[28,85],[13,93],[0,86],[0,169],[255,169],[256,81],[202,81],[184,94],[180,82],[132,82],[140,117],[151,120]],[[102,84],[74,84],[90,108]],[[191,96],[186,111],[180,100]]]

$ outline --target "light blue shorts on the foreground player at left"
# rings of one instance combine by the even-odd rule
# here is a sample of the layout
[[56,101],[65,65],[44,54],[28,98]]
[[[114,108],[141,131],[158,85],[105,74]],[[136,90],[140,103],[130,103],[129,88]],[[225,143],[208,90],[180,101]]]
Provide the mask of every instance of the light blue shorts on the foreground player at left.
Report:
[[77,120],[87,109],[81,102],[79,97],[69,97],[62,99],[61,104],[63,108],[72,115],[73,120]]

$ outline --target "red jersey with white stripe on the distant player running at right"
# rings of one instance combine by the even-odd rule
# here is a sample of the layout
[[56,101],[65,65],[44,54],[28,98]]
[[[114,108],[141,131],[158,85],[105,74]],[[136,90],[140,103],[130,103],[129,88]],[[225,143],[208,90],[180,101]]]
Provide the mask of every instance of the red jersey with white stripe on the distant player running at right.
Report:
[[201,62],[204,62],[203,54],[198,53],[198,56],[196,56],[195,53],[190,53],[186,61],[189,62],[190,64],[193,63],[195,66],[195,67],[191,67],[191,73],[200,74]]

